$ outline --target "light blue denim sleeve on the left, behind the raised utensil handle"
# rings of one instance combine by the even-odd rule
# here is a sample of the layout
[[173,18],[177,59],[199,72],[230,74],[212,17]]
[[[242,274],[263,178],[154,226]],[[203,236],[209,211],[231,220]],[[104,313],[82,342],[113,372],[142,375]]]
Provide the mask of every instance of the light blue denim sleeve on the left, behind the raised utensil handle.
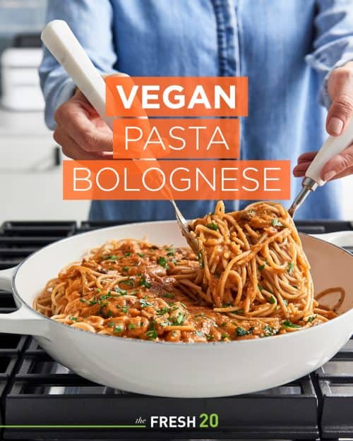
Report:
[[[47,22],[51,20],[68,23],[98,71],[115,72],[113,11],[109,0],[49,0]],[[73,95],[76,86],[47,49],[44,49],[39,73],[46,103],[45,122],[54,129],[56,108]]]

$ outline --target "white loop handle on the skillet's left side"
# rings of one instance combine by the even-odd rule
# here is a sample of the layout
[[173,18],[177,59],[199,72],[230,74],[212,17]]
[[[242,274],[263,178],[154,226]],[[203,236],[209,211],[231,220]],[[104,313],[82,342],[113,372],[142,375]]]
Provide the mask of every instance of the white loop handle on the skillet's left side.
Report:
[[[0,271],[0,289],[12,291],[15,272],[16,267]],[[48,327],[49,320],[39,313],[35,313],[24,303],[13,313],[0,314],[0,332],[5,334],[29,334],[45,337]]]

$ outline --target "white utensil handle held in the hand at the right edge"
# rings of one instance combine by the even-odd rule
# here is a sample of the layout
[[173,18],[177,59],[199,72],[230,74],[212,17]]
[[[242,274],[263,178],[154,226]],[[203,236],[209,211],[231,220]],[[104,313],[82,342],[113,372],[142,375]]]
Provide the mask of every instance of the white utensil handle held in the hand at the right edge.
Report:
[[329,136],[323,146],[318,151],[318,154],[311,162],[309,169],[306,170],[305,176],[313,179],[319,186],[323,186],[325,181],[321,179],[321,170],[323,166],[332,159],[335,155],[345,150],[353,142],[353,117],[349,121],[349,124],[340,136]]

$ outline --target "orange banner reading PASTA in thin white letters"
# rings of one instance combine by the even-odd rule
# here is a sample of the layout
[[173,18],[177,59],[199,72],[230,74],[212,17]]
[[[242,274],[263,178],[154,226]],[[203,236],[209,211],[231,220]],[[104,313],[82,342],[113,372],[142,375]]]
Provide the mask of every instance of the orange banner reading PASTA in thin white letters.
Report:
[[239,119],[115,119],[114,159],[236,159]]

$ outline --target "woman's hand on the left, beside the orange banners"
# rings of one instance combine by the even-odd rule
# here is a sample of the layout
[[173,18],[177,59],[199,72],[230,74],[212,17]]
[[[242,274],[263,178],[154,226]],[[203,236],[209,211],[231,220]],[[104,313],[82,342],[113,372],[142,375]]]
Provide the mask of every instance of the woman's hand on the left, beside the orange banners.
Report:
[[73,97],[56,109],[54,140],[72,159],[112,159],[113,132],[76,89]]

